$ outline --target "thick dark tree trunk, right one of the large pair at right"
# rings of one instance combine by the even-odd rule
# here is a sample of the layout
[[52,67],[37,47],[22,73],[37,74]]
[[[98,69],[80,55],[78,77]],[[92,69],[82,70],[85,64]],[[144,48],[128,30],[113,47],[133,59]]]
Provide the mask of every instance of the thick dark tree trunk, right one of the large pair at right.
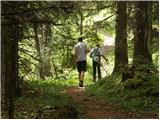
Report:
[[151,39],[149,33],[150,18],[148,14],[149,2],[140,1],[136,2],[136,28],[134,35],[134,53],[133,64],[135,66],[141,66],[151,64],[152,60],[148,50],[148,39]]

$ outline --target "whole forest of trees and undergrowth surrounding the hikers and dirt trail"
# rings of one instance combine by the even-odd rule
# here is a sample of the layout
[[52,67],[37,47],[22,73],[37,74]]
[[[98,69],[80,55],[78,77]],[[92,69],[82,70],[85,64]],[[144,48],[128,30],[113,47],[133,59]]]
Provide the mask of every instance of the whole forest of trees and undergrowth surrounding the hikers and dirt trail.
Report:
[[109,60],[93,83],[87,55],[86,94],[157,118],[158,18],[158,1],[1,1],[2,118],[41,118],[46,106],[72,105],[62,91],[78,86],[79,37],[90,49],[100,43]]

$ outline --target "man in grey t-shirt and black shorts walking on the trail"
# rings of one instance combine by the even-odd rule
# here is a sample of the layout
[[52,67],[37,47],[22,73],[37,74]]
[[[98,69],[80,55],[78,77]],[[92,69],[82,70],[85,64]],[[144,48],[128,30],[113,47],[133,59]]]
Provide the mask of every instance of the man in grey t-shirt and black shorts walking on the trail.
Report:
[[79,72],[79,86],[83,87],[84,74],[86,72],[86,54],[89,52],[87,44],[80,37],[78,43],[74,46],[77,70]]

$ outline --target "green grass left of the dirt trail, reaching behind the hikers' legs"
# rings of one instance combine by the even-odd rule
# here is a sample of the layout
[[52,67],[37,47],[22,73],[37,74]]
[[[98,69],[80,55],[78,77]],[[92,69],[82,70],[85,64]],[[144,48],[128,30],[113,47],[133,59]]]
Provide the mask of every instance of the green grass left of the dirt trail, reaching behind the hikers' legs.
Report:
[[[22,96],[15,102],[15,118],[28,119],[40,118],[42,114],[53,113],[52,110],[62,109],[68,106],[78,106],[65,94],[64,89],[70,86],[78,86],[78,73],[76,70],[71,71],[66,79],[47,78],[46,80],[37,79],[29,76],[28,80],[21,83]],[[86,72],[85,86],[92,84],[91,75]],[[57,113],[56,113],[57,114]],[[57,118],[52,115],[50,118]],[[60,117],[63,118],[63,117]]]

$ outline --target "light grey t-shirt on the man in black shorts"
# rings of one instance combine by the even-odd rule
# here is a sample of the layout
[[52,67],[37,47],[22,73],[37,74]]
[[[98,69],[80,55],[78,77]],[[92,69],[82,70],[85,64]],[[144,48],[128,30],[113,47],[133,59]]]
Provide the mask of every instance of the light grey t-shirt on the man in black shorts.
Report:
[[87,45],[83,42],[78,42],[75,46],[75,55],[77,56],[76,61],[86,61],[86,49]]

